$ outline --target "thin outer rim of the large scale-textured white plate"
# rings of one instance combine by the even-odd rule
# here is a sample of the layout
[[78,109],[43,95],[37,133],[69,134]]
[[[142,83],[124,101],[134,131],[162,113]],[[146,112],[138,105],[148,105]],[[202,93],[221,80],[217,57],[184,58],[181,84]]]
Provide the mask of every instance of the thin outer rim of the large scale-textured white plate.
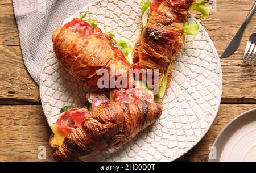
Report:
[[[100,2],[100,0],[96,0],[96,1],[94,1],[94,2],[89,3],[88,5],[86,5],[86,6],[83,7],[82,9],[80,9],[79,11],[75,12],[75,14],[73,14],[71,17],[65,19],[64,22],[63,22],[63,24],[66,23],[66,22],[68,22],[70,19],[72,19],[73,16],[75,16],[75,15],[77,15],[77,14],[81,14],[81,12],[84,12],[84,9],[85,9],[86,7],[92,6],[92,5],[94,5],[94,4],[98,3],[98,2]],[[210,48],[212,49],[213,54],[216,56],[218,62],[220,63],[220,58],[218,57],[217,50],[216,50],[216,48],[214,47],[214,44],[213,44],[212,40],[210,39],[210,37],[209,37],[207,31],[204,29],[204,27],[201,25],[201,23],[200,23],[198,20],[196,20],[193,16],[192,16],[192,19],[193,19],[197,24],[199,24],[199,28],[205,33],[205,36],[207,37],[207,40],[209,41],[208,44],[210,45]],[[50,47],[50,46],[51,46],[51,44],[49,45],[49,47]],[[50,50],[50,48],[48,49],[47,52],[49,52],[49,50]],[[46,58],[45,58],[44,63],[46,63]],[[222,69],[221,69],[221,66],[220,66],[219,68],[220,68],[220,82],[221,82],[221,83],[220,83],[220,95],[218,96],[217,110],[218,110],[219,107],[220,107],[221,95],[222,95]],[[42,68],[42,69],[43,69],[43,68]],[[42,70],[42,73],[41,73],[41,74],[43,74],[43,70]],[[40,82],[40,86],[42,86],[42,82]],[[42,93],[42,90],[41,90],[41,87],[40,87],[40,96],[41,96],[41,97],[42,97],[42,94],[43,94],[43,93]],[[42,100],[41,100],[41,102],[42,102]],[[43,106],[43,102],[42,102],[42,107],[43,107],[43,111],[44,111],[44,113],[45,113],[45,112],[46,112],[46,109],[45,109],[45,107]],[[204,130],[204,133],[202,133],[202,135],[197,138],[197,142],[195,142],[192,146],[190,146],[190,148],[187,149],[187,151],[185,151],[185,153],[187,153],[189,150],[191,150],[195,145],[197,145],[197,144],[201,141],[201,139],[202,139],[202,138],[205,136],[205,134],[208,132],[210,126],[212,126],[212,124],[213,124],[213,122],[214,122],[214,119],[215,119],[216,116],[217,116],[217,113],[218,113],[218,111],[216,111],[216,112],[214,113],[214,115],[213,115],[213,120],[212,120],[212,122],[209,123],[209,125],[207,126],[207,128],[206,128],[207,130]],[[47,119],[47,123],[49,124],[49,126],[51,126],[51,123],[49,122],[49,120],[48,120],[47,117],[46,117],[46,119]],[[185,153],[183,153],[183,154],[177,156],[175,159],[181,157],[181,156],[184,155]],[[175,160],[175,159],[172,159],[171,161],[173,161],[173,160]]]

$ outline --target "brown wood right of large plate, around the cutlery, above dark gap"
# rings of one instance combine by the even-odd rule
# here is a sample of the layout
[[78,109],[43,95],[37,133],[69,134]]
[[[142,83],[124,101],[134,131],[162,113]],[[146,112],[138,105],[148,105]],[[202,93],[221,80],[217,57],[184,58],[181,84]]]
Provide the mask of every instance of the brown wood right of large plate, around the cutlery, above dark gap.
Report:
[[[217,0],[217,11],[201,23],[209,33],[219,56],[224,52],[233,36],[245,20],[254,1],[250,0]],[[256,67],[242,63],[247,40],[256,32],[256,15],[254,14],[243,33],[237,52],[221,60],[223,74],[222,103],[256,102]]]

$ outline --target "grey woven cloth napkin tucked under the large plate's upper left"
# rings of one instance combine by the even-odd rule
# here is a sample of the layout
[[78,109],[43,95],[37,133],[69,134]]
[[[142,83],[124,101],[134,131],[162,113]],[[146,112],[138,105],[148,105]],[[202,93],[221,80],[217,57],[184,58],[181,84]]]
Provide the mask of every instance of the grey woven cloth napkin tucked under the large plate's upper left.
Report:
[[39,85],[52,32],[64,19],[94,0],[13,0],[24,64]]

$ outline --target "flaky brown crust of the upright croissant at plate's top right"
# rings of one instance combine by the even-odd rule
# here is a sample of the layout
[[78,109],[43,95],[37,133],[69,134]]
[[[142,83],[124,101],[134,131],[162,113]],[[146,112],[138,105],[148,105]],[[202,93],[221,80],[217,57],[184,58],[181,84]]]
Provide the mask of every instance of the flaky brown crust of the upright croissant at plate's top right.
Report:
[[[172,61],[168,71],[168,84],[174,61],[185,40],[184,23],[194,0],[164,0],[154,10],[134,48],[134,58],[142,69],[159,69],[159,79]],[[159,83],[160,84],[160,83]]]

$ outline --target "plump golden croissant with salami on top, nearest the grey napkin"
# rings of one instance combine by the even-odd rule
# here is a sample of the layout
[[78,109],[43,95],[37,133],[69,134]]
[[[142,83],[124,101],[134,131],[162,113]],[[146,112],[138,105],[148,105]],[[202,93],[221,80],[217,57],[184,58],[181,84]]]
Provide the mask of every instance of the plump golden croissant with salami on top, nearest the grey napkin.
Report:
[[[116,41],[102,33],[99,28],[90,26],[81,19],[59,27],[52,35],[53,49],[60,64],[77,79],[88,86],[97,86],[98,71],[115,66],[115,79],[127,75],[127,86],[133,83],[128,75],[131,65],[126,60]],[[110,76],[108,77],[110,81]]]

